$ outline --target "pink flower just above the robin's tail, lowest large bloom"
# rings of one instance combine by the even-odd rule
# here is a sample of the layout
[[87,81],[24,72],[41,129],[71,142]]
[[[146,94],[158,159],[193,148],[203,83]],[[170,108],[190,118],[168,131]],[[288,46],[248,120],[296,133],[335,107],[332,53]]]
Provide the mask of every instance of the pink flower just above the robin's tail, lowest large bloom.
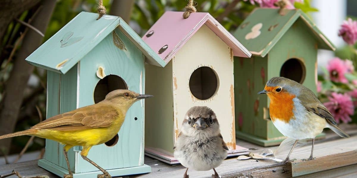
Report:
[[328,99],[330,101],[323,104],[331,112],[337,123],[340,120],[345,123],[351,121],[350,115],[353,115],[354,106],[351,97],[347,93],[339,94],[333,92]]

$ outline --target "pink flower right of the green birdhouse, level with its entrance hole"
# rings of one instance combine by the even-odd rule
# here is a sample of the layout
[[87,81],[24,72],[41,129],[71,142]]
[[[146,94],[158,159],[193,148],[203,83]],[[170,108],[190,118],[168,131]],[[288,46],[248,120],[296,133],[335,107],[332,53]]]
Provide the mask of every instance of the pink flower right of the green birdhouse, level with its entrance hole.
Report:
[[333,82],[348,83],[345,73],[348,71],[346,63],[340,58],[331,59],[327,64],[327,70],[330,73],[330,79]]

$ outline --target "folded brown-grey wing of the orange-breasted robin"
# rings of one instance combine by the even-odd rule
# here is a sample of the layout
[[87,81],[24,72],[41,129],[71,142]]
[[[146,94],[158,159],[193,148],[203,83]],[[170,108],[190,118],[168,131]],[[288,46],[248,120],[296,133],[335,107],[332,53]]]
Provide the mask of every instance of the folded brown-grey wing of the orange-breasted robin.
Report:
[[316,95],[310,89],[304,88],[300,93],[298,99],[308,111],[326,119],[331,125],[337,125],[330,111],[317,99]]

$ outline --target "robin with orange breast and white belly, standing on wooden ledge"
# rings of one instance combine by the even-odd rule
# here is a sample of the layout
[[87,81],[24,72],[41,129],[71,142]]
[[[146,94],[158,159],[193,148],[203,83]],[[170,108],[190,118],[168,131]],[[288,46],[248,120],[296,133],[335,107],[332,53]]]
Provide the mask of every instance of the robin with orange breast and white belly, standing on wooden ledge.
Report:
[[285,162],[298,140],[312,138],[311,155],[303,161],[316,159],[312,156],[315,137],[324,128],[330,128],[341,137],[348,138],[346,132],[337,127],[330,111],[305,86],[284,77],[273,77],[258,94],[267,94],[270,99],[270,118],[275,127],[286,137],[296,139]]

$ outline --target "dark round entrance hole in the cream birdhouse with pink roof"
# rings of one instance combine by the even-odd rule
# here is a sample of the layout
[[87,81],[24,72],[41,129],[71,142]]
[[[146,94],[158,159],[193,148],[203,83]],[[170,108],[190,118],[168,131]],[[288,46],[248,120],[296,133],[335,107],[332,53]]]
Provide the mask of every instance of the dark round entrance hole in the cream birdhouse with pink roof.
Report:
[[190,77],[190,91],[200,100],[211,98],[218,90],[218,76],[210,67],[197,68]]

